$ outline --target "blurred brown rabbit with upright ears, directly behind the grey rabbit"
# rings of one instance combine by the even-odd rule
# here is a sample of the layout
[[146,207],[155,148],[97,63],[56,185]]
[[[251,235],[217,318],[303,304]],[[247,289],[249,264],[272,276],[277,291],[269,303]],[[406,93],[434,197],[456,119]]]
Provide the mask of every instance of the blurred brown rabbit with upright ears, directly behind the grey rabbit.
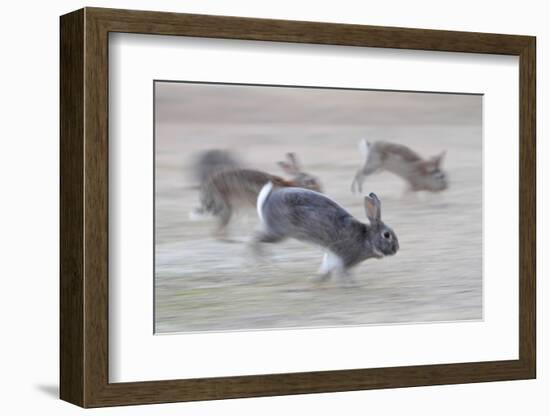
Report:
[[212,175],[200,191],[200,208],[195,213],[209,213],[218,218],[216,234],[223,236],[226,232],[235,208],[255,207],[262,187],[271,182],[277,188],[299,187],[321,191],[319,180],[303,172],[294,153],[288,153],[287,161],[279,166],[292,176],[292,179],[272,175],[253,169],[233,169]]

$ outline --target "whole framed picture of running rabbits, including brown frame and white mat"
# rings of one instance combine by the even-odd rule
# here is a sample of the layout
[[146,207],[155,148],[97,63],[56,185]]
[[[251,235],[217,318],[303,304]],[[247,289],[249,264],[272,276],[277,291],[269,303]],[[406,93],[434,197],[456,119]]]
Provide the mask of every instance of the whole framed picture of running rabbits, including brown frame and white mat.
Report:
[[61,17],[60,396],[535,378],[535,38]]

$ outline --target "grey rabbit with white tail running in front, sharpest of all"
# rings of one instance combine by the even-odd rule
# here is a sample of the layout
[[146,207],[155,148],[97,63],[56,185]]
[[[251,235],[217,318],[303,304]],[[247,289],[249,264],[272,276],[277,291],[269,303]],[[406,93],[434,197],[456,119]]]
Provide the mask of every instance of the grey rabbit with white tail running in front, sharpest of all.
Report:
[[323,194],[299,188],[276,189],[268,183],[258,196],[263,230],[256,235],[253,247],[258,253],[260,243],[287,238],[312,243],[325,250],[317,279],[325,281],[335,273],[343,283],[352,283],[351,267],[369,258],[394,255],[399,249],[397,236],[382,222],[378,197],[371,193],[364,203],[368,225]]

